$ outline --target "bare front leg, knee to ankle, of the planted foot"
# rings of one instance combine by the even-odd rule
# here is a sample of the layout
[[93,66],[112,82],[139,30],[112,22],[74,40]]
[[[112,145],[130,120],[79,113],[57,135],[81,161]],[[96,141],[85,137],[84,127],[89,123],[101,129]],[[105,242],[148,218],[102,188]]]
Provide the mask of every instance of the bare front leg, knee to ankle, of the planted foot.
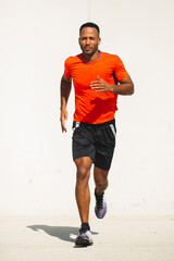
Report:
[[89,219],[89,176],[92,160],[90,157],[83,157],[74,160],[77,167],[75,196],[82,223],[88,223]]

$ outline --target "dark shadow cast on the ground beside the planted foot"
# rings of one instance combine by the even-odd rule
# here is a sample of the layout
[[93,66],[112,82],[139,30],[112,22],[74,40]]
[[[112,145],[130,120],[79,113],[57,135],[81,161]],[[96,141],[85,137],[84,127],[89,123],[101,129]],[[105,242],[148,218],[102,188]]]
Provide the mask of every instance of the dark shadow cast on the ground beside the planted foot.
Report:
[[[27,227],[35,232],[38,232],[41,229],[50,236],[58,237],[61,240],[71,241],[71,243],[75,243],[75,239],[72,238],[72,236],[76,237],[79,231],[79,227],[73,227],[73,226],[30,225]],[[91,232],[91,234],[97,235],[98,233]]]

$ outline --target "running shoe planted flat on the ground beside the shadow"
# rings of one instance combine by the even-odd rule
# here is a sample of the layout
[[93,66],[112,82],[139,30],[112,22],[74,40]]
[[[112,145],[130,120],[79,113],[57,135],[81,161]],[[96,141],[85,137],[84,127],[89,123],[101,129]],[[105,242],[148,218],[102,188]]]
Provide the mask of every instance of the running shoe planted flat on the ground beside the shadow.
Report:
[[87,246],[91,246],[92,244],[94,243],[91,239],[91,232],[87,228],[82,227],[79,229],[79,235],[75,240],[75,245],[80,247],[87,247]]

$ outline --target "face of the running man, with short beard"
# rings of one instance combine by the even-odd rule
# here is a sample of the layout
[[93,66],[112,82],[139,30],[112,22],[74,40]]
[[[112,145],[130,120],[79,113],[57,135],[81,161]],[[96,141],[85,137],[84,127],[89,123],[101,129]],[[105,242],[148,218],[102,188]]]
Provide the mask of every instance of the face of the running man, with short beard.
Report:
[[94,27],[84,27],[79,35],[79,46],[84,54],[92,55],[100,45],[98,30]]

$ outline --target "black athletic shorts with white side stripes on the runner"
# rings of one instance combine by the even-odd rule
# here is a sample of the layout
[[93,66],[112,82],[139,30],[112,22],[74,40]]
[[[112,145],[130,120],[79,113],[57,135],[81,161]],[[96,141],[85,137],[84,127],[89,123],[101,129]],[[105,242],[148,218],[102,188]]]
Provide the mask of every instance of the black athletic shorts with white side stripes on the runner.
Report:
[[96,166],[109,170],[115,147],[115,120],[89,124],[73,122],[73,159],[90,157]]

